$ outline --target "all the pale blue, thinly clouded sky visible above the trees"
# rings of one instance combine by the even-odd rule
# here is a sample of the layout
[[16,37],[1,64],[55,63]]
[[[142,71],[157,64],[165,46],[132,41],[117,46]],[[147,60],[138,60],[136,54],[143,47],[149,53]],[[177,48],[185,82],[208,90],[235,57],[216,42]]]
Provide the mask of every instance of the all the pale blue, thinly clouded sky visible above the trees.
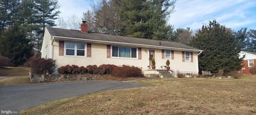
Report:
[[[82,17],[97,0],[58,0],[60,18],[72,15]],[[256,0],[177,0],[169,24],[174,28],[201,29],[203,24],[216,19],[220,25],[232,30],[242,27],[256,30]]]

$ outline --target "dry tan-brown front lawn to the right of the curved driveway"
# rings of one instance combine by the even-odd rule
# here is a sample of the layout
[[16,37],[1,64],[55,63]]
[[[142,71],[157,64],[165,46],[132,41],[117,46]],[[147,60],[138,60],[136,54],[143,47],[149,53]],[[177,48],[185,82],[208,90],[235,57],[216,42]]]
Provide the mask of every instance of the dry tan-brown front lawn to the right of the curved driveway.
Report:
[[80,95],[26,109],[20,115],[256,115],[256,75],[138,83],[154,86]]

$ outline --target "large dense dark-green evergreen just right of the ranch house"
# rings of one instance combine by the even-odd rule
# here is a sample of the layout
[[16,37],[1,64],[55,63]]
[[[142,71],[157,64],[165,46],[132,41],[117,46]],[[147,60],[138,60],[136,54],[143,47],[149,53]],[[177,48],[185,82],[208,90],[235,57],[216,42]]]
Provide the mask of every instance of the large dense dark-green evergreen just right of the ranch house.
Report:
[[238,70],[242,59],[238,53],[237,40],[232,31],[220,26],[213,20],[209,26],[202,26],[201,30],[192,37],[190,46],[204,50],[198,57],[199,69],[217,73],[222,69],[225,73]]

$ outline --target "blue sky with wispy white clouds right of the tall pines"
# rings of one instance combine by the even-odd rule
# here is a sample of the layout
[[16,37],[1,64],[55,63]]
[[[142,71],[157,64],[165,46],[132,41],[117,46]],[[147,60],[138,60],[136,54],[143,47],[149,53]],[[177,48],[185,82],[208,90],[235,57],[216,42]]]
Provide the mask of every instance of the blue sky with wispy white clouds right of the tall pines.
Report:
[[177,0],[175,9],[169,21],[175,29],[190,27],[196,30],[213,19],[234,30],[256,27],[256,1],[253,0]]

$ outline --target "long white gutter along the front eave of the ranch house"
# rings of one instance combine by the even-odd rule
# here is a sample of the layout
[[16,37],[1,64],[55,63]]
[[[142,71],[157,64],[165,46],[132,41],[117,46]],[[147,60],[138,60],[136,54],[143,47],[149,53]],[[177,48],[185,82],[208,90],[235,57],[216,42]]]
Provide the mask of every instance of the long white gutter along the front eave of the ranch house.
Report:
[[[72,40],[85,40],[82,38],[69,38],[69,37],[62,37],[62,36],[52,36],[53,38],[65,38],[65,39],[72,39]],[[173,48],[173,47],[161,47],[161,46],[152,46],[152,45],[143,45],[143,44],[132,44],[132,43],[124,43],[124,42],[110,42],[110,41],[102,41],[102,40],[90,40],[86,39],[87,41],[92,42],[104,42],[104,43],[114,43],[114,44],[126,44],[126,45],[136,45],[136,46],[147,46],[147,47],[157,47],[157,48],[171,48],[171,49],[177,49],[177,50],[188,50],[188,51],[198,51],[202,52],[202,50],[191,50],[191,49],[184,49],[184,48]]]

